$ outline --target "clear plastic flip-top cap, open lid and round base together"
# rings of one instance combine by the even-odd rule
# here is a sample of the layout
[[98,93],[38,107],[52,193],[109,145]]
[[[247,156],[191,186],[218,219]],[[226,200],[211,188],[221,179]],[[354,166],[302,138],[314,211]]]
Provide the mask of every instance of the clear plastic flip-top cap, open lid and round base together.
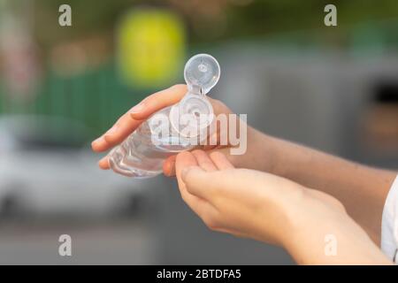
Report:
[[[220,67],[214,57],[198,54],[188,60],[184,69],[188,93],[182,98],[178,107],[173,107],[170,112],[172,126],[180,134],[195,137],[210,125],[213,108],[205,95],[217,84],[219,76]],[[180,121],[181,115],[187,115],[189,121]],[[188,126],[185,126],[187,133],[180,131],[180,122],[188,123]]]

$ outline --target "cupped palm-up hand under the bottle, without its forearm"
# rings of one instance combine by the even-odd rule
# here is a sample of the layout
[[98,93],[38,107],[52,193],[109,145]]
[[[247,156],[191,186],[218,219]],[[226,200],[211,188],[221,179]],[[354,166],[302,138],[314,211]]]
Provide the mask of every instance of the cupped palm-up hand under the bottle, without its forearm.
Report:
[[[183,152],[176,160],[180,194],[212,230],[284,245],[293,226],[289,211],[301,203],[305,188],[290,180],[234,169],[219,152]],[[343,211],[332,197],[336,210]]]

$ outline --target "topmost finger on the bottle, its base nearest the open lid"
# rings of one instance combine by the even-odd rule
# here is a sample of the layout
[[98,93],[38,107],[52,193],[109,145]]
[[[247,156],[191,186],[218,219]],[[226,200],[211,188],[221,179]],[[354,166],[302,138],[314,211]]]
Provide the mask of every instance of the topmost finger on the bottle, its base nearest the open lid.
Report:
[[175,85],[172,86],[172,88],[167,88],[152,96],[148,96],[142,103],[139,103],[131,109],[131,117],[138,120],[148,119],[149,116],[156,111],[178,103],[181,98],[185,96],[187,90],[186,85]]

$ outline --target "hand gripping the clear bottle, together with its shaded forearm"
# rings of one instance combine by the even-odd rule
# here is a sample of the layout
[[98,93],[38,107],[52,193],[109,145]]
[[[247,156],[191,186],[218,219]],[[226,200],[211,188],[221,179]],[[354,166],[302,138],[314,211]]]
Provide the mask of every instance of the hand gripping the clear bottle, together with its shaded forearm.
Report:
[[[127,111],[109,131],[96,139],[92,148],[96,152],[113,148],[132,134],[145,119],[162,108],[178,103],[186,93],[185,85],[176,85],[145,98],[142,103]],[[209,100],[216,115],[231,113],[223,103],[211,98]],[[396,172],[353,164],[314,149],[273,138],[249,126],[247,133],[247,151],[243,155],[230,155],[231,144],[201,149],[208,153],[224,153],[236,167],[270,172],[337,197],[348,210],[348,214],[366,229],[374,242],[379,243],[381,215]],[[216,134],[219,138],[228,133],[224,131]],[[175,160],[175,156],[165,160],[165,175],[175,174]],[[103,157],[99,165],[103,169],[109,169],[108,158]],[[321,192],[312,193],[317,194],[326,195]],[[329,198],[328,195],[326,198]]]

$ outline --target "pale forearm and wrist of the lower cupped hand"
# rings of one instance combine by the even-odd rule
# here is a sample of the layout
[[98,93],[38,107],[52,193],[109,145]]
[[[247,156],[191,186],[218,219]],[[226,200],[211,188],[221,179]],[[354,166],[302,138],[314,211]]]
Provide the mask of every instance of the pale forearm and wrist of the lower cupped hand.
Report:
[[338,200],[306,187],[301,191],[281,202],[290,232],[282,245],[296,263],[392,264]]

